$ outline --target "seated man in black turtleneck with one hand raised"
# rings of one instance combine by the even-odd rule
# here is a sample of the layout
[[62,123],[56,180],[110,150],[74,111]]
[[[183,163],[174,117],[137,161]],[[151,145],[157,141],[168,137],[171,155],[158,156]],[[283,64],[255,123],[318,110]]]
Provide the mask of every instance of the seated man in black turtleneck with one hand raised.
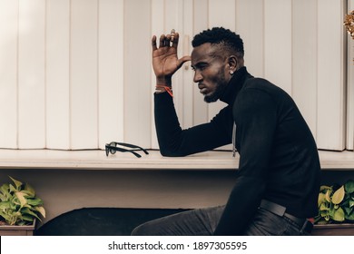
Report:
[[[243,43],[222,27],[197,34],[192,57],[177,57],[179,34],[152,37],[155,125],[163,156],[186,156],[233,143],[238,177],[225,206],[148,221],[133,235],[309,235],[318,214],[320,160],[307,123],[290,96],[254,78]],[[206,103],[228,105],[211,122],[182,130],[172,102],[172,75],[192,60]]]

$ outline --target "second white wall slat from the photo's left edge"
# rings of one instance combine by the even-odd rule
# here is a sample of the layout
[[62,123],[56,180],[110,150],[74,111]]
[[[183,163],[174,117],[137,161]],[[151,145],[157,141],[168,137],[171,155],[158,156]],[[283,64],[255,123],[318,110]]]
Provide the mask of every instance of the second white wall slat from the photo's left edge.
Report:
[[18,42],[18,145],[45,147],[45,1],[20,0]]

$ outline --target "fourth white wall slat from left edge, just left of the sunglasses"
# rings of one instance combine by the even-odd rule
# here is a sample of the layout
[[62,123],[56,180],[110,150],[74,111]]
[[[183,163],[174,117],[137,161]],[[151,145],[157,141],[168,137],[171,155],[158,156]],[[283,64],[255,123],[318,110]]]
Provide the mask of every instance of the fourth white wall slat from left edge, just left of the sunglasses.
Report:
[[71,4],[71,149],[93,149],[98,147],[98,2]]

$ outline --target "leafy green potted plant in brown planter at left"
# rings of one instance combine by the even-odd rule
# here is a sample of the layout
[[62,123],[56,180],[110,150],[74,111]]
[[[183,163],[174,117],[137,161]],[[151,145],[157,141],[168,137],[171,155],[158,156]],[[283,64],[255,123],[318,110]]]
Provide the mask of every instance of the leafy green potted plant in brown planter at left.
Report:
[[35,221],[45,217],[43,201],[31,185],[9,178],[0,187],[0,235],[33,235]]

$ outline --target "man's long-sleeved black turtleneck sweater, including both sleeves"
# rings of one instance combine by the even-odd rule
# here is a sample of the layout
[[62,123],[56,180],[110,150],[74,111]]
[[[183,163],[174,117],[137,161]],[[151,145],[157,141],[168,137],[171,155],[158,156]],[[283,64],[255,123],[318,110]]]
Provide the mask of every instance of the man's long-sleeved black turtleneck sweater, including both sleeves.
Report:
[[186,156],[232,142],[240,153],[238,177],[215,235],[242,235],[261,199],[299,218],[316,216],[320,160],[307,123],[278,86],[242,67],[221,96],[228,105],[211,122],[182,130],[168,93],[155,93],[155,125],[163,156]]

